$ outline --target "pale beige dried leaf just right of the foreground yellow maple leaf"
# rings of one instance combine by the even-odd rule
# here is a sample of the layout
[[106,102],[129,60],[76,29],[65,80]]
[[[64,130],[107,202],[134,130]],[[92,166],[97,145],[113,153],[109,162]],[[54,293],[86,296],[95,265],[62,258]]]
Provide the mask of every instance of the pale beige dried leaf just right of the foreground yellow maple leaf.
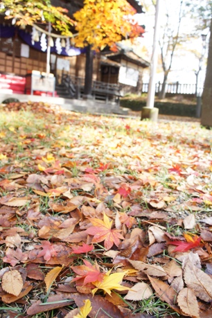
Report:
[[152,296],[153,292],[147,283],[136,283],[129,292],[127,292],[124,299],[132,301],[141,301],[143,299],[148,299]]

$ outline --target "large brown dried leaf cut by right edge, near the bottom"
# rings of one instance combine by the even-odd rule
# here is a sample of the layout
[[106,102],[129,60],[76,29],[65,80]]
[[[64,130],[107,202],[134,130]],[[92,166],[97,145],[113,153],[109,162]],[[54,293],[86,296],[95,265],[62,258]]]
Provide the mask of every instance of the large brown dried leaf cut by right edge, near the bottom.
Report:
[[184,281],[188,288],[192,288],[195,295],[203,301],[212,300],[212,279],[195,267],[189,260],[184,267]]

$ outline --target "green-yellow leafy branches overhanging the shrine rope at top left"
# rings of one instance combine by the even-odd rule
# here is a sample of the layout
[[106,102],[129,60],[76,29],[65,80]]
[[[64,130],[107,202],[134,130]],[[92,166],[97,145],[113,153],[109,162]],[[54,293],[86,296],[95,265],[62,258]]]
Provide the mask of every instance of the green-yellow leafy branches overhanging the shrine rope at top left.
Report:
[[51,0],[1,0],[0,12],[21,28],[51,22],[51,26],[62,35],[72,36],[70,28],[74,21],[67,16],[66,9],[51,6]]

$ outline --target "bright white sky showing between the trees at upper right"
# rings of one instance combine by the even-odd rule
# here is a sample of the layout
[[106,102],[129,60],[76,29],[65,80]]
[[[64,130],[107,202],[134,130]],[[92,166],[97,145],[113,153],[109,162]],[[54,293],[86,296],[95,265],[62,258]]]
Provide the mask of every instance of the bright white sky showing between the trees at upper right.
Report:
[[[151,3],[151,0],[145,0],[144,3]],[[171,15],[171,19],[173,24],[177,25],[179,12],[179,3],[180,0],[160,0],[160,33],[163,32],[163,25],[166,21],[166,17],[164,16],[164,12],[167,12]],[[149,6],[148,10],[146,10],[145,14],[137,15],[137,19],[140,24],[145,25],[145,34],[142,38],[139,39],[139,50],[142,51],[143,46],[148,49],[149,56],[145,56],[146,60],[150,61],[150,56],[152,54],[152,44],[153,44],[153,36],[154,36],[154,7]],[[194,28],[193,20],[189,19],[189,17],[185,17],[182,19],[181,29],[183,32],[187,34],[192,34]],[[207,38],[209,40],[209,36]],[[179,81],[182,84],[195,84],[196,76],[195,71],[199,68],[199,60],[195,57],[194,53],[191,53],[191,49],[197,51],[200,55],[203,51],[202,46],[202,38],[192,38],[189,44],[184,44],[184,47],[173,58],[173,66],[172,70],[168,76],[168,82],[177,82]],[[199,82],[200,86],[203,86],[205,70],[206,70],[206,53],[204,54],[204,59],[202,63],[202,71],[200,71]],[[147,71],[144,75],[144,82],[148,82],[149,71]],[[163,81],[163,73],[157,73],[156,82]]]

